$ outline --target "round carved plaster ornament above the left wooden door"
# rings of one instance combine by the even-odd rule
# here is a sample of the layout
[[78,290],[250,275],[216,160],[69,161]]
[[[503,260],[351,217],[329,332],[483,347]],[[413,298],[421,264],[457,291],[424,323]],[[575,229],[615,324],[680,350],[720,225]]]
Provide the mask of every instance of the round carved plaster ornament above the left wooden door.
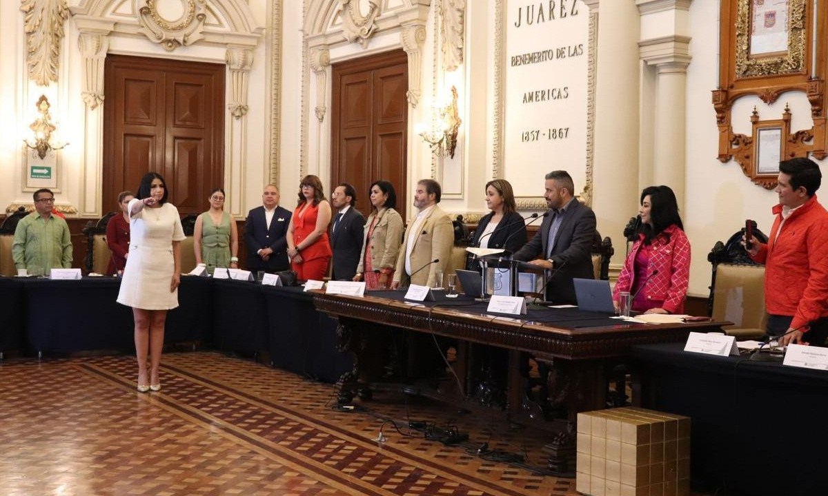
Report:
[[[175,0],[168,0],[175,1]],[[178,0],[181,2],[181,16],[166,19],[158,10],[159,0],[146,0],[147,4],[138,10],[138,22],[142,32],[150,41],[161,44],[167,51],[181,45],[192,45],[204,37],[204,0]]]

